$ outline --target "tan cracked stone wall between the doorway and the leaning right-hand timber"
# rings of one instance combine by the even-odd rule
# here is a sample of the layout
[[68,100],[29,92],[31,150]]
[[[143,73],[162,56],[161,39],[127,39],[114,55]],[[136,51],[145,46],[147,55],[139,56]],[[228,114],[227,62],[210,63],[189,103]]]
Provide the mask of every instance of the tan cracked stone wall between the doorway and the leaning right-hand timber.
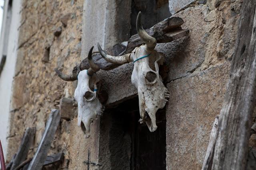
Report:
[[[220,113],[234,53],[241,0],[169,0],[190,39],[170,61],[166,169],[201,169]],[[175,7],[175,8],[174,8]]]

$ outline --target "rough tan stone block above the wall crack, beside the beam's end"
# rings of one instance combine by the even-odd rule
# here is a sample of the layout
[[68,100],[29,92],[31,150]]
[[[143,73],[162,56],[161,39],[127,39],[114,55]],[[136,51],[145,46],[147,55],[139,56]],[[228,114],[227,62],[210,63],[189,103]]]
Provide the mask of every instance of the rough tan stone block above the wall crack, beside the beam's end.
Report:
[[[168,81],[188,76],[194,71],[199,72],[208,68],[209,65],[225,61],[225,59],[218,58],[216,51],[223,33],[221,12],[211,11],[209,13],[206,6],[195,6],[182,10],[174,16],[184,20],[182,29],[190,30],[190,38],[187,45],[176,50],[178,53],[166,55],[167,59],[172,58],[168,64],[170,68]],[[172,47],[173,45],[168,45],[164,50],[173,51]]]

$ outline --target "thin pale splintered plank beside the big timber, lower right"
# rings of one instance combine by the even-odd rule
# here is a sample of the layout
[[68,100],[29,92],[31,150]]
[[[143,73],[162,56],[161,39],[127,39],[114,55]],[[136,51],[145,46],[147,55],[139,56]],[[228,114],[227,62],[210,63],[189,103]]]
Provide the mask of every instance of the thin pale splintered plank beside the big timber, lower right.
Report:
[[214,147],[217,139],[217,132],[218,132],[218,120],[219,117],[216,117],[212,126],[212,132],[210,135],[210,140],[208,144],[208,148],[206,151],[206,155],[204,157],[204,163],[202,166],[202,170],[210,170],[212,167],[212,160],[214,155]]

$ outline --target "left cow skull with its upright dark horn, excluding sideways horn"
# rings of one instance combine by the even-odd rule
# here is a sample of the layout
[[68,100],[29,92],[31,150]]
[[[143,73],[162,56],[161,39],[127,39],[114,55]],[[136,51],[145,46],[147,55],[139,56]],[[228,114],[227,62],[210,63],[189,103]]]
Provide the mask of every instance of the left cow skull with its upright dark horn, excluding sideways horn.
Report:
[[92,49],[88,54],[90,68],[79,72],[78,84],[74,93],[74,98],[78,103],[78,126],[81,122],[86,128],[85,137],[90,137],[90,125],[104,111],[104,106],[97,98],[98,76],[95,74],[100,68],[92,61]]

